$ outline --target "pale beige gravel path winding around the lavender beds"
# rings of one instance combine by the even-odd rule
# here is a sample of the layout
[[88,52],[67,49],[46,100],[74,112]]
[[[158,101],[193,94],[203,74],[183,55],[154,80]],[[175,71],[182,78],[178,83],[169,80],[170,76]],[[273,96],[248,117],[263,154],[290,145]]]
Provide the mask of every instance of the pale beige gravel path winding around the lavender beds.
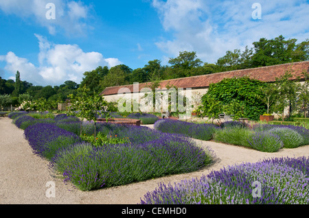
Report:
[[[30,145],[23,138],[23,130],[16,128],[8,117],[0,117],[0,204],[137,204],[159,182],[174,184],[184,179],[199,178],[223,166],[255,162],[268,157],[309,156],[309,145],[271,154],[212,141],[198,143],[201,147],[214,150],[217,161],[213,165],[192,173],[83,192],[71,184],[65,184],[62,178],[55,178],[47,167],[47,160],[32,153]],[[49,186],[50,182],[52,186]],[[53,188],[55,196],[49,192]]]

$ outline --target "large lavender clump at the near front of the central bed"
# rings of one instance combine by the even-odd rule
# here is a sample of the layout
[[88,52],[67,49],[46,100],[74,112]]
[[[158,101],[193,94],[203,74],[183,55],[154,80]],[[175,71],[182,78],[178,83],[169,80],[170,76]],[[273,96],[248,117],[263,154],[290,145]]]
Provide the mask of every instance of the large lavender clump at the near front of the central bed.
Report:
[[[190,172],[212,161],[210,151],[205,152],[189,138],[171,134],[137,145],[89,146],[61,150],[52,162],[66,181],[83,191]],[[80,152],[83,149],[87,152]]]

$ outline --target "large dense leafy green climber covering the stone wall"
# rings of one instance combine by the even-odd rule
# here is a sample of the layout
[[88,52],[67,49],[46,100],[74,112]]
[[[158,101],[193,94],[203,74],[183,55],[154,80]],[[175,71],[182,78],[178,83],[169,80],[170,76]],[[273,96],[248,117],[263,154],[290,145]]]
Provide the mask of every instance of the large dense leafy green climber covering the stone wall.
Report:
[[247,117],[258,120],[266,111],[266,105],[260,101],[264,96],[261,87],[266,83],[251,80],[249,77],[225,78],[216,84],[210,84],[208,92],[202,97],[199,108],[201,116],[218,118],[223,112],[233,114],[234,119]]

